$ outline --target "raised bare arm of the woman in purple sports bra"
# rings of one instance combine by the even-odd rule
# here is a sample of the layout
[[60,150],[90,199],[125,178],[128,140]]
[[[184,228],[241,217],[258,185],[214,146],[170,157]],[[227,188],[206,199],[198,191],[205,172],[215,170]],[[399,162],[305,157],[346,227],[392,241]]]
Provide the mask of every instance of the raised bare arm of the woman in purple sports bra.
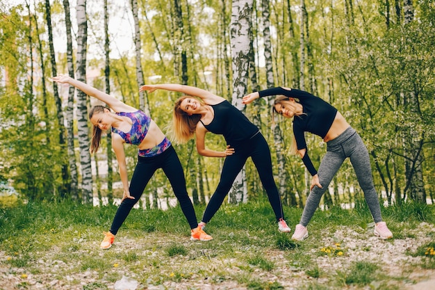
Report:
[[124,104],[120,100],[112,97],[111,95],[106,94],[106,92],[101,92],[101,90],[97,90],[96,88],[89,86],[87,83],[83,83],[81,81],[77,81],[76,79],[72,79],[71,76],[60,74],[58,76],[54,76],[51,81],[56,81],[57,83],[68,83],[71,86],[74,86],[84,92],[86,95],[90,95],[91,97],[96,97],[101,102],[105,102],[113,109],[115,112],[131,112],[137,111],[136,108],[133,108],[129,105]]

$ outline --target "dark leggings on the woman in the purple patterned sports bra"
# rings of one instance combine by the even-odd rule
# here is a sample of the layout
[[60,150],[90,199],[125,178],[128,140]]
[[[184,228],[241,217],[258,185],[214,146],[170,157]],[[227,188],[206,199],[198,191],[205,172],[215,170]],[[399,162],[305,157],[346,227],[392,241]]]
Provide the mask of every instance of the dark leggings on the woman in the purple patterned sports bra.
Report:
[[174,194],[180,202],[181,210],[188,220],[190,229],[194,229],[198,226],[195,209],[186,190],[186,179],[184,178],[183,168],[181,167],[177,152],[175,152],[174,147],[170,146],[157,156],[138,156],[138,164],[136,164],[130,182],[130,195],[135,199],[131,200],[126,198],[121,202],[120,207],[118,207],[116,211],[115,218],[113,218],[112,226],[110,227],[112,234],[117,234],[118,229],[120,229],[122,223],[124,223],[124,220],[129,215],[133,206],[140,200],[140,196],[142,196],[149,179],[151,179],[158,168],[162,168],[167,179],[169,179]]

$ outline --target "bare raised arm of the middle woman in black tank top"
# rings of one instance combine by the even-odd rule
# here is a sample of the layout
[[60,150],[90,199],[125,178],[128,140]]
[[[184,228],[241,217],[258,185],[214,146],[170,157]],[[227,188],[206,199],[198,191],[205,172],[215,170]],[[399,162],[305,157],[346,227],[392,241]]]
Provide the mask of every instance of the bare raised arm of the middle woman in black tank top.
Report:
[[180,85],[177,83],[166,83],[166,84],[158,84],[158,85],[144,85],[139,88],[139,91],[142,92],[147,90],[148,92],[154,92],[154,90],[170,90],[172,92],[181,92],[185,95],[190,95],[193,97],[199,97],[206,104],[218,104],[225,99],[223,97],[219,97],[212,92],[208,92],[207,90],[203,90],[202,88],[195,88],[192,86]]

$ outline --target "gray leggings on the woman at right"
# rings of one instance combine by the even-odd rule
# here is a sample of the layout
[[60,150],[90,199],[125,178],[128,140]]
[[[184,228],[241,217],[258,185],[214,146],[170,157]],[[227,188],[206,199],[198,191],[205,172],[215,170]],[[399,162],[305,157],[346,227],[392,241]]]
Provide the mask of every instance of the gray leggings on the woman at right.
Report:
[[350,157],[350,162],[354,167],[356,177],[363,189],[364,197],[375,223],[382,221],[381,207],[379,206],[379,200],[373,185],[372,168],[370,167],[370,157],[368,156],[366,145],[364,145],[359,134],[352,127],[349,127],[340,136],[327,143],[327,154],[325,154],[322,162],[320,162],[318,170],[322,188],[314,186],[306,200],[300,221],[300,224],[304,227],[310,222],[315,209],[317,209],[320,203],[320,198],[322,198],[332,177],[334,177],[347,157]]

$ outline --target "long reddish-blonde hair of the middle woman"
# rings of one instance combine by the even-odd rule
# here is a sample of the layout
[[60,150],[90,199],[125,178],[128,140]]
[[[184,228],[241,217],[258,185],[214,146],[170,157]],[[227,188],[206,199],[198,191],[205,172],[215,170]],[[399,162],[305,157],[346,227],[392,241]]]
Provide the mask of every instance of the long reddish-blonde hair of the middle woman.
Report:
[[185,111],[181,110],[181,102],[187,98],[189,96],[180,97],[174,104],[172,131],[169,134],[175,140],[175,143],[178,144],[186,143],[193,138],[199,119],[201,119],[200,114],[188,115]]

